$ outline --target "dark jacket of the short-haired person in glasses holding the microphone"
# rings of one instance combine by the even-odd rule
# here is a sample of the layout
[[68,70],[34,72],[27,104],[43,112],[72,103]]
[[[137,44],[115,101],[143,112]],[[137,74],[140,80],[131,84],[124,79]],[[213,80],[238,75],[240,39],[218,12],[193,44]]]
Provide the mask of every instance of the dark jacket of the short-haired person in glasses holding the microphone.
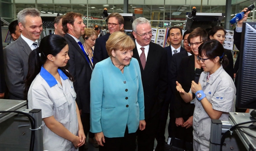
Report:
[[[177,71],[177,81],[186,92],[189,92],[193,80],[195,80],[195,56],[183,57],[179,70]],[[177,91],[175,92],[175,118],[183,117],[184,121],[186,121],[193,115],[194,108],[194,104],[186,103],[180,97],[180,94]]]

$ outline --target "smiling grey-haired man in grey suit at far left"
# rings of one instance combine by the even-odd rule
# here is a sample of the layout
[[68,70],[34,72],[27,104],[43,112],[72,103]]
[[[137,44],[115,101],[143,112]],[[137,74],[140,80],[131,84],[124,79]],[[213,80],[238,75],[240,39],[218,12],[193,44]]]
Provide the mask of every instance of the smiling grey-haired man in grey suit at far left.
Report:
[[3,61],[8,98],[25,100],[25,79],[28,73],[28,59],[32,50],[38,48],[38,40],[43,30],[41,12],[35,8],[25,8],[17,15],[20,37],[3,49]]

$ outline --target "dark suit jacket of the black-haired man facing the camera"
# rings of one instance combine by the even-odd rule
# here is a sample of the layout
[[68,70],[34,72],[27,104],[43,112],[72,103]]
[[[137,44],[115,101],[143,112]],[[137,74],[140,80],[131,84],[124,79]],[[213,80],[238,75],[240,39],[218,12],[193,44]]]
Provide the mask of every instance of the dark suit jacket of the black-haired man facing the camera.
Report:
[[[168,89],[167,89],[167,93],[166,93],[166,101],[169,101],[170,102],[170,107],[169,109],[173,110],[173,107],[174,107],[174,95],[172,95],[172,83],[171,83],[171,75],[172,75],[172,70],[171,70],[171,64],[172,64],[172,59],[173,59],[173,56],[172,56],[172,48],[171,48],[171,45],[169,45],[168,47],[165,47],[165,49],[167,50],[167,62],[168,62]],[[180,53],[183,52],[186,50],[183,48],[183,47],[180,47]],[[179,54],[179,53],[177,53]],[[176,72],[175,72],[176,73]],[[175,84],[176,85],[176,84]]]

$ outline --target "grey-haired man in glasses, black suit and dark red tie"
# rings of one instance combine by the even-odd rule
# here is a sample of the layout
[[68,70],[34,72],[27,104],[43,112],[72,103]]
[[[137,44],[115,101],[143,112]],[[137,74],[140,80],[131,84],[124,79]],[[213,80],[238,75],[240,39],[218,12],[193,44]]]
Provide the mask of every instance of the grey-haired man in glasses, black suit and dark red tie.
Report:
[[137,18],[132,26],[136,43],[133,57],[140,64],[146,121],[145,130],[138,130],[138,151],[153,151],[159,113],[168,84],[167,53],[160,45],[151,42],[151,24],[147,19]]

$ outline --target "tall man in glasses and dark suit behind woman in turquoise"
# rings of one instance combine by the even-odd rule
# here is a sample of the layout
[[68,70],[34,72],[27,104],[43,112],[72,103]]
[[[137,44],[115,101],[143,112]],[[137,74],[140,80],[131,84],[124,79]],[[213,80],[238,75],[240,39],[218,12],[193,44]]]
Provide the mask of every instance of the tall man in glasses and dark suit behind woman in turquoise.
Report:
[[106,50],[106,42],[113,32],[121,31],[124,27],[124,18],[119,13],[111,13],[108,15],[108,30],[109,33],[96,39],[94,53],[93,53],[93,65],[108,58],[108,52]]

